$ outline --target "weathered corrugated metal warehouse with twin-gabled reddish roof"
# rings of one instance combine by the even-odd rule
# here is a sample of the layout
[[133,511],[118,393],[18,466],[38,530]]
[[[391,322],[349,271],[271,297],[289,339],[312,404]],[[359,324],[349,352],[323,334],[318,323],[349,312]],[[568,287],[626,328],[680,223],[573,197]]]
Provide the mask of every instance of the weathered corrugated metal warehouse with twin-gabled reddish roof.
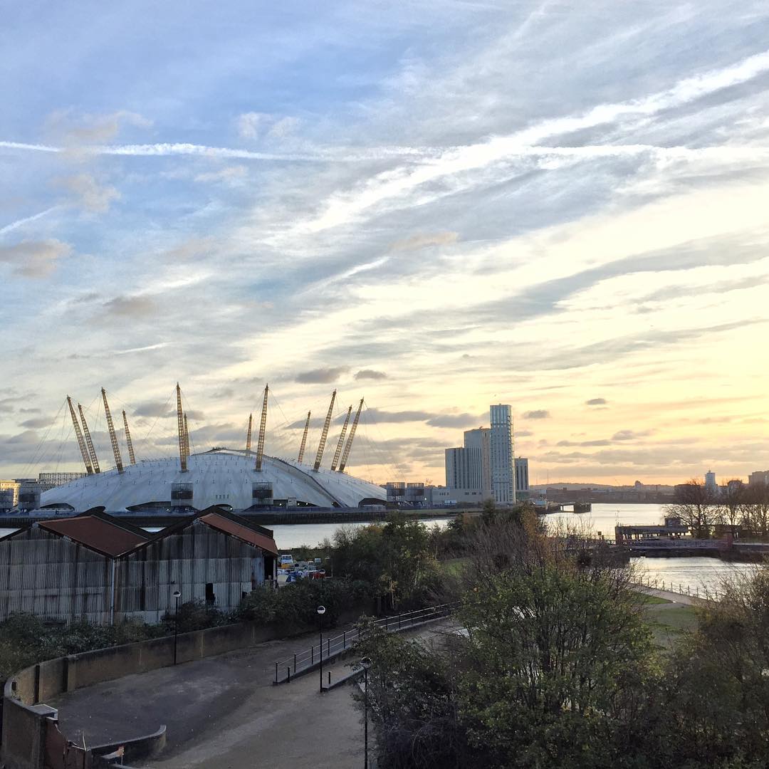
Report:
[[268,529],[218,509],[158,534],[104,513],[32,524],[0,539],[0,621],[27,611],[50,621],[159,621],[180,602],[237,608],[275,577]]

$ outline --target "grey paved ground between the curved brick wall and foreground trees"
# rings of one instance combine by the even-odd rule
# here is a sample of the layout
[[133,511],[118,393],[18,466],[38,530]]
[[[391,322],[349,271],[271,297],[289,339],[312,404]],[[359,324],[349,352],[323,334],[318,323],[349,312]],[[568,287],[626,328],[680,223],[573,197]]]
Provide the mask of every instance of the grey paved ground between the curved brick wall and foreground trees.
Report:
[[[434,638],[437,625],[414,635]],[[276,659],[308,647],[311,635],[268,641],[218,657],[105,681],[52,701],[69,739],[88,744],[168,727],[168,745],[151,767],[317,767],[359,769],[361,715],[349,686],[318,693],[319,675],[273,686]],[[328,670],[329,666],[324,666]],[[332,676],[346,663],[331,664]]]

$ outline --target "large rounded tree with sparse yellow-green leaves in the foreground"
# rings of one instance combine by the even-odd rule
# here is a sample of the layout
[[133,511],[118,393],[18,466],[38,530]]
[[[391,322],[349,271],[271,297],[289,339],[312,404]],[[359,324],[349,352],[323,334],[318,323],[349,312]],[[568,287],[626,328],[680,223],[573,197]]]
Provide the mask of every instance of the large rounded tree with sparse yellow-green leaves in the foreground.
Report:
[[498,574],[464,601],[461,717],[495,767],[619,766],[643,719],[654,646],[638,595],[606,570]]

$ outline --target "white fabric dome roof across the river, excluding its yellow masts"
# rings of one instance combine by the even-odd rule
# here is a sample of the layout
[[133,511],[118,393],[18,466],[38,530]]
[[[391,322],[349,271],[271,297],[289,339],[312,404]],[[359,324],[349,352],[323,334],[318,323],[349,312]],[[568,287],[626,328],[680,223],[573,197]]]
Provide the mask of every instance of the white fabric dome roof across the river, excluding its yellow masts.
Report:
[[246,510],[254,504],[253,484],[272,484],[275,499],[295,498],[321,508],[357,508],[365,499],[385,501],[383,488],[351,475],[308,464],[265,456],[261,471],[254,469],[255,453],[217,449],[191,454],[183,473],[178,458],[129,464],[123,473],[108,470],[44,491],[41,506],[68,504],[75,511],[103,507],[108,512],[171,500],[171,484],[191,484],[189,504],[204,510],[213,504]]

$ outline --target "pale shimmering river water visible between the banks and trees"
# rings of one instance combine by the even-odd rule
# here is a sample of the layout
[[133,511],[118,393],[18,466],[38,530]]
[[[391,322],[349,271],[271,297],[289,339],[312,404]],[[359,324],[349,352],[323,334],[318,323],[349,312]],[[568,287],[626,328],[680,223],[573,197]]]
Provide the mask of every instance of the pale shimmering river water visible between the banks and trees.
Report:
[[[568,528],[579,528],[581,531],[591,530],[594,534],[600,531],[604,537],[614,539],[614,525],[621,524],[657,524],[662,522],[664,505],[661,504],[594,504],[590,513],[576,514],[571,512],[553,513],[546,516],[549,526],[560,525]],[[448,525],[451,516],[446,518],[428,518],[424,523],[428,526],[438,525],[441,528]],[[315,546],[325,538],[333,538],[334,532],[341,524],[287,524],[270,527],[275,532],[278,549],[283,552],[291,551],[302,544]],[[347,526],[366,526],[366,523],[350,523]],[[0,537],[10,534],[13,529],[0,528]],[[157,531],[157,529],[155,529]],[[734,574],[749,574],[755,567],[753,564],[732,564],[718,558],[633,558],[632,563],[645,578],[657,580],[659,584],[674,585],[676,590],[692,593],[705,589],[716,591],[724,578]]]

